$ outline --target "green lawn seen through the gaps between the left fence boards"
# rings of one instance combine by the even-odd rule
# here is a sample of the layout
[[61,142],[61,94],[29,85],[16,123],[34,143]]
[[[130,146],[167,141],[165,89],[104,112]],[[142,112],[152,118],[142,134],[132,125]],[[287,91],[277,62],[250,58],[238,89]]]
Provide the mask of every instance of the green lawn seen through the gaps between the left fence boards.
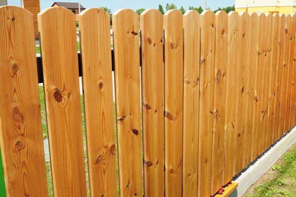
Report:
[[[40,97],[43,139],[47,140],[48,135],[47,135],[47,126],[46,126],[46,112],[45,112],[43,86],[39,86],[39,97]],[[88,166],[87,166],[87,153],[86,153],[85,124],[84,124],[84,106],[83,106],[83,96],[82,95],[80,95],[80,105],[81,105],[81,117],[82,117],[82,131],[83,131],[83,147],[84,147],[86,187],[87,187],[87,195],[90,196],[90,193],[89,193],[89,179],[88,179]],[[114,110],[114,131],[116,133],[115,105],[113,105],[113,106],[114,106],[113,107],[113,110]],[[115,135],[115,137],[116,137],[116,135]],[[116,139],[115,139],[115,141],[116,141]],[[117,150],[117,144],[116,144],[116,150]],[[117,171],[117,183],[118,183],[117,151],[116,151],[116,171]],[[48,194],[49,194],[49,197],[53,197],[53,187],[52,187],[52,177],[51,177],[50,162],[46,163],[46,175],[47,175]],[[117,187],[117,194],[119,196],[119,187]]]

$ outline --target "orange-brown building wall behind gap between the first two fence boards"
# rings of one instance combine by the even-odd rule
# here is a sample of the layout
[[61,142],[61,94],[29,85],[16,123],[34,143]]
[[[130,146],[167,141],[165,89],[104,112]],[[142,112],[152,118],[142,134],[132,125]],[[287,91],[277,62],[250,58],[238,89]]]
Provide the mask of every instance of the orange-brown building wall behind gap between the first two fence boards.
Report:
[[23,1],[23,8],[27,9],[29,12],[33,14],[35,37],[38,38],[39,33],[38,33],[37,14],[40,12],[40,0],[22,0],[22,1]]

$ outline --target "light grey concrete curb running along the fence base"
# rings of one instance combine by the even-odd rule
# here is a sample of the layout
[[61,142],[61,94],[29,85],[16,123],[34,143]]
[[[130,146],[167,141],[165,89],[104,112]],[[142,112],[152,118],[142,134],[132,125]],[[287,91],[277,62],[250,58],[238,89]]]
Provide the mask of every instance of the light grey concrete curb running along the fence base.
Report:
[[234,177],[237,189],[229,197],[241,197],[245,192],[290,148],[296,143],[296,127],[294,126],[283,137],[276,141],[257,160]]

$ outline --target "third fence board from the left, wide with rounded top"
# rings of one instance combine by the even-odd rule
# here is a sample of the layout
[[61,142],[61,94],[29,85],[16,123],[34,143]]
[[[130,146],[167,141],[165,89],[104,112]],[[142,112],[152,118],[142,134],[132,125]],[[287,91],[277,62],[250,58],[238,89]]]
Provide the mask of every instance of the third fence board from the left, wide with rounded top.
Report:
[[110,15],[91,8],[78,19],[90,194],[117,197]]

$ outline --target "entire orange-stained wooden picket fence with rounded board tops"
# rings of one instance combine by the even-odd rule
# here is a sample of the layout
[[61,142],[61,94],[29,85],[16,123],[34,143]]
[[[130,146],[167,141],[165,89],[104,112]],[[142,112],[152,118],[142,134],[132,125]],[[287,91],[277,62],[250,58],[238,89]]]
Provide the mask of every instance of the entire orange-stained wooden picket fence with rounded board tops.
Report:
[[[92,197],[117,196],[116,165],[121,197],[210,197],[296,124],[296,15],[122,9],[112,21],[113,60],[110,16],[79,15]],[[38,27],[54,194],[85,197],[75,15],[48,8]],[[31,13],[0,7],[9,197],[48,196],[34,38]]]

